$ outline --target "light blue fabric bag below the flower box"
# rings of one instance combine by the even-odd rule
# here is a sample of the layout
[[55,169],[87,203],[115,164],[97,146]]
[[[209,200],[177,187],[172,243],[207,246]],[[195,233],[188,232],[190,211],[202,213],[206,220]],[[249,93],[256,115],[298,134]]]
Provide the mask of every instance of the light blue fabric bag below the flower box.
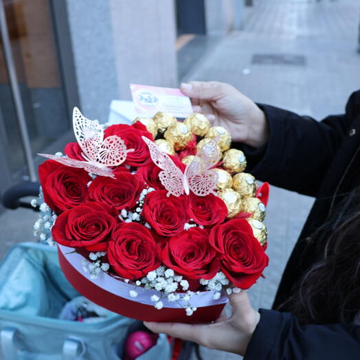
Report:
[[[66,302],[78,295],[58,265],[55,247],[23,243],[10,249],[0,265],[0,329],[16,329],[16,359],[63,359],[69,337],[85,344],[81,359],[120,359],[116,352],[122,353],[128,326],[136,321],[110,311],[95,324],[58,319]],[[159,337],[141,359],[170,359],[164,340]]]

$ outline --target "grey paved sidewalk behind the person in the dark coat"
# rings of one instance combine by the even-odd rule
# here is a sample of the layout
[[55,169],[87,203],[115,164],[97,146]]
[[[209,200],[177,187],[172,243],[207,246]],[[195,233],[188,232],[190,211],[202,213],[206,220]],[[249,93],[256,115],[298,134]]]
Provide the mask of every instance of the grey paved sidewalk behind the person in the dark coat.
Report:
[[[351,0],[260,0],[242,31],[207,52],[182,81],[228,82],[249,98],[321,120],[343,113],[360,88],[356,52],[360,3]],[[270,308],[286,260],[313,199],[271,187],[265,223],[269,267],[249,290],[254,308]],[[240,359],[201,348],[203,359]]]

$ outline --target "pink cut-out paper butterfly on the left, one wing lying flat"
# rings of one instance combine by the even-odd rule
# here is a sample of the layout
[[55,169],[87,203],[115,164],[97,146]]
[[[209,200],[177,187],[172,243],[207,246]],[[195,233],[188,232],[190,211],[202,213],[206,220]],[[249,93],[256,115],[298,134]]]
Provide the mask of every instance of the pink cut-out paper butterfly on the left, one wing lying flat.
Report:
[[82,157],[86,161],[69,159],[57,155],[38,154],[60,164],[72,168],[83,168],[91,174],[102,177],[113,177],[110,166],[118,166],[126,159],[126,154],[133,149],[126,149],[124,140],[117,135],[104,139],[102,127],[95,121],[87,119],[77,107],[73,111],[73,127],[76,140],[82,150]]

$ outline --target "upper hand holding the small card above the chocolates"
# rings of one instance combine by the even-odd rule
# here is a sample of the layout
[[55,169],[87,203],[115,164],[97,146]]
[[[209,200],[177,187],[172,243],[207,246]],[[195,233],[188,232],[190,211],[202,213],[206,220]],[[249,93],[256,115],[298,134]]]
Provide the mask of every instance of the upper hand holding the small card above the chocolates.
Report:
[[191,98],[194,112],[203,113],[213,126],[226,128],[233,141],[258,148],[269,139],[265,114],[232,85],[192,81],[182,83],[180,89]]

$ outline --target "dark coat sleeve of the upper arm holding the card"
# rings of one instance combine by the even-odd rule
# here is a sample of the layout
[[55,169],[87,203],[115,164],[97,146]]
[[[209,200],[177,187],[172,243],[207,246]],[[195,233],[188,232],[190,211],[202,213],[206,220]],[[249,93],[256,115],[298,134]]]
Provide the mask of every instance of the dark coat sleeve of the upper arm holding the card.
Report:
[[270,138],[260,149],[239,143],[232,146],[245,152],[248,169],[262,181],[315,196],[348,128],[355,118],[355,102],[360,92],[353,93],[346,114],[331,115],[321,122],[260,105],[269,122]]

